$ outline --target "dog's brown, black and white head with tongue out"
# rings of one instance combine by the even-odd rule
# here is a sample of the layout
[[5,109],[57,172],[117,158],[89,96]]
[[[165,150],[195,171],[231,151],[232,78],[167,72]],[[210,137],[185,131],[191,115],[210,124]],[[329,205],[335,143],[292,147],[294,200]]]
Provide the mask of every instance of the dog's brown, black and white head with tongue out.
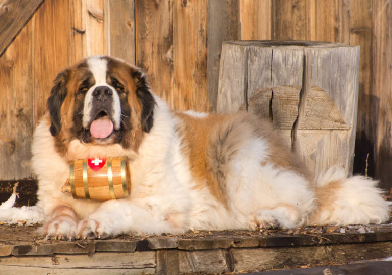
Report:
[[58,147],[77,139],[137,149],[153,126],[155,101],[141,70],[94,56],[58,74],[47,105]]

